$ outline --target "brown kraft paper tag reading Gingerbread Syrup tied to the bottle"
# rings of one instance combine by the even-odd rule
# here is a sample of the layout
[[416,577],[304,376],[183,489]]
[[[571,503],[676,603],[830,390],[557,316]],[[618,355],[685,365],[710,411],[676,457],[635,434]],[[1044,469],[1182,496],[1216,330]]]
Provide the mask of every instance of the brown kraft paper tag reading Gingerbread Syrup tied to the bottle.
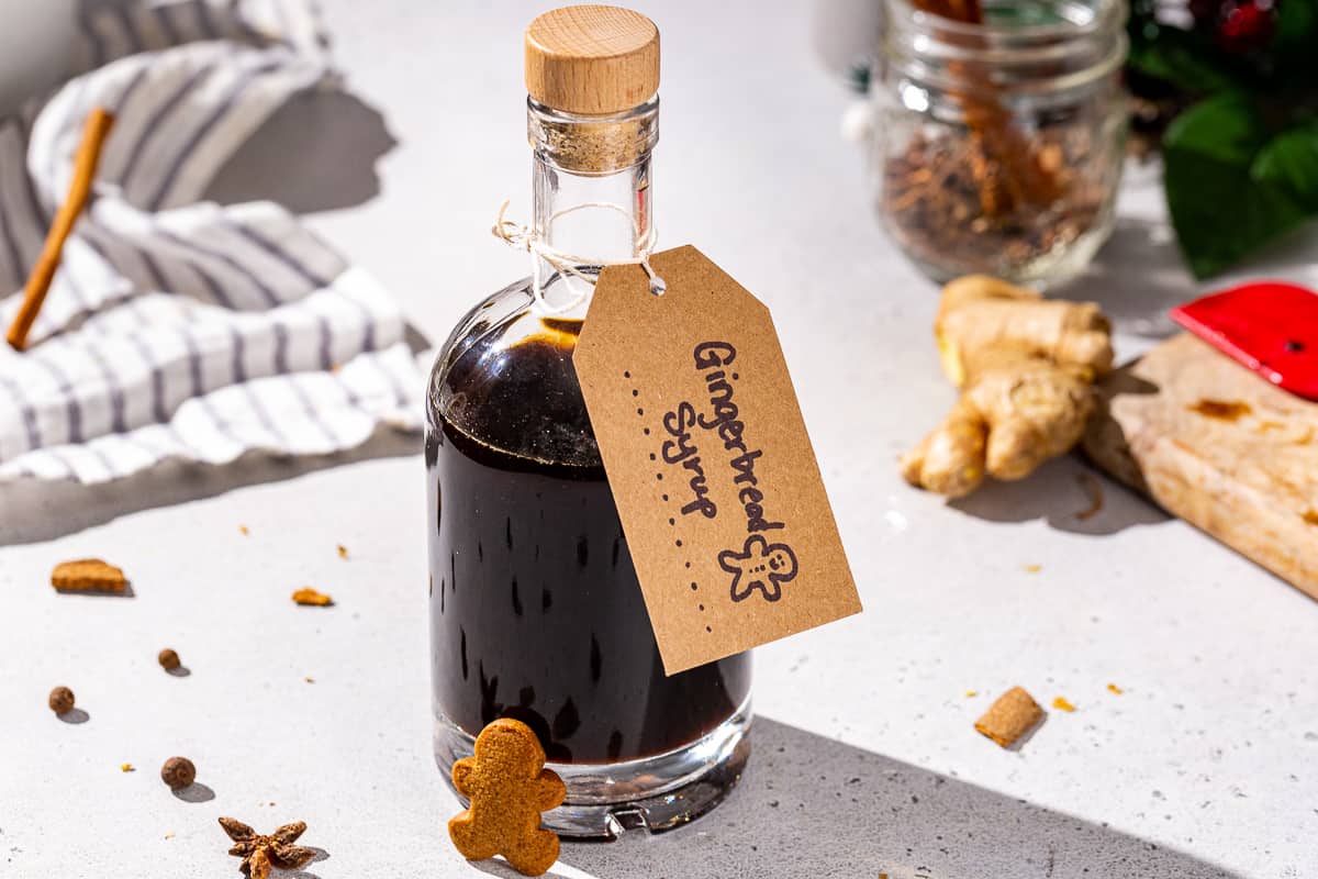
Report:
[[861,610],[768,310],[693,246],[600,274],[573,365],[664,671]]

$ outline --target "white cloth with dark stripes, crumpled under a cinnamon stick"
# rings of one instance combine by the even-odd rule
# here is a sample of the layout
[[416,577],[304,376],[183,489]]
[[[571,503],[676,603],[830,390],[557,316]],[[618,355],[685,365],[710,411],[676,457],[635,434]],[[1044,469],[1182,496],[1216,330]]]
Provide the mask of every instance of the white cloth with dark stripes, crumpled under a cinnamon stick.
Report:
[[88,111],[116,117],[28,351],[0,344],[0,482],[419,428],[420,370],[370,275],[274,203],[200,200],[281,104],[335,82],[308,0],[103,0],[80,25],[88,72],[0,123],[8,326]]

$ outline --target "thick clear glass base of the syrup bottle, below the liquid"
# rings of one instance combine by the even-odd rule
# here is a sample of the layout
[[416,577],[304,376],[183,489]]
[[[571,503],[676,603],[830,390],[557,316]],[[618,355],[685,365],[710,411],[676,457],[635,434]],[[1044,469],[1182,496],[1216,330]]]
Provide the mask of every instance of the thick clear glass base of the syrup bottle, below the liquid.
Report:
[[[623,830],[671,830],[718,805],[741,780],[750,756],[750,698],[691,745],[622,763],[547,763],[568,787],[563,805],[544,813],[544,828],[581,839],[616,839]],[[474,739],[443,714],[435,717],[435,762],[453,789],[453,763],[471,756]],[[467,800],[453,791],[459,800]]]

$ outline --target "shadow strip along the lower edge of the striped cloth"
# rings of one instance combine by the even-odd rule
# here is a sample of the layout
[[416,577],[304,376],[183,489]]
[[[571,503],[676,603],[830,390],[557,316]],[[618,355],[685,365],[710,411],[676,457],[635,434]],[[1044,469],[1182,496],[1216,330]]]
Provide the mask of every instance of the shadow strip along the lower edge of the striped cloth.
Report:
[[332,467],[419,456],[420,447],[420,434],[381,426],[357,448],[333,455],[295,457],[252,451],[219,467],[165,461],[100,485],[24,480],[0,490],[0,546],[53,540],[129,513],[215,497],[248,485],[293,480]]

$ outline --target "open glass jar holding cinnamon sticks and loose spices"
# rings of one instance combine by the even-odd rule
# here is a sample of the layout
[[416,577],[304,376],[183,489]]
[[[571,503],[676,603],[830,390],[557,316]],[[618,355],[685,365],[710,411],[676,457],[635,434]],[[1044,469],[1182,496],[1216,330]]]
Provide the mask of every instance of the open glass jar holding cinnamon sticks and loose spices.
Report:
[[1046,285],[1107,240],[1127,98],[1120,0],[983,0],[983,24],[887,0],[875,108],[878,212],[938,281]]

